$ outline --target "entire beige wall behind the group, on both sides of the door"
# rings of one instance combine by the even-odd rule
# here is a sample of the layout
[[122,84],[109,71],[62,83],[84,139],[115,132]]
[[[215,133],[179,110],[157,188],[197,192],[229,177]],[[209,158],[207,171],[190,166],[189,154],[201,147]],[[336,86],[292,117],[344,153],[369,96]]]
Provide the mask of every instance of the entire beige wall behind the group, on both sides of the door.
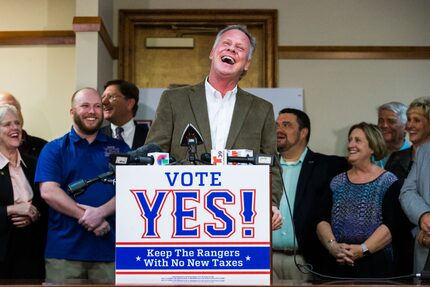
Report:
[[[261,8],[278,9],[280,46],[430,46],[427,0],[113,0],[113,8],[113,24],[105,22],[113,27],[116,44],[118,9]],[[0,30],[71,30],[74,13],[74,0],[2,0]],[[12,91],[23,102],[31,133],[52,139],[69,129],[68,101],[76,84],[74,50],[0,46],[0,90]],[[110,62],[106,55],[101,59],[99,69]],[[116,76],[115,62],[113,67]],[[304,88],[305,111],[312,121],[311,147],[324,153],[344,154],[349,126],[375,122],[379,104],[391,100],[407,104],[430,95],[429,76],[429,60],[279,62],[279,86]]]

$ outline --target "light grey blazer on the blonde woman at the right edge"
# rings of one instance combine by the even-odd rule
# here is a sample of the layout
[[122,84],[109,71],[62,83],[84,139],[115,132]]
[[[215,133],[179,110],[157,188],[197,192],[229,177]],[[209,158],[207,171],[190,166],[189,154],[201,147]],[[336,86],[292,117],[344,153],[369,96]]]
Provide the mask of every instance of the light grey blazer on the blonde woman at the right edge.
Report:
[[[413,231],[416,235],[421,216],[430,212],[430,142],[418,148],[415,162],[403,184],[399,199],[409,220],[417,225]],[[415,240],[414,272],[423,270],[428,253],[429,249]]]

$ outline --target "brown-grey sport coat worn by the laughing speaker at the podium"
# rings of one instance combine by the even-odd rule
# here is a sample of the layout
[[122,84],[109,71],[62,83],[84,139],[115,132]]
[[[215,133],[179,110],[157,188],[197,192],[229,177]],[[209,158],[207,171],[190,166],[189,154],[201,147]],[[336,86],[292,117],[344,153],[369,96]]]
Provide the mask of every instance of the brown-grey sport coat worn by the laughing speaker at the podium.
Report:
[[[197,153],[212,149],[205,84],[163,92],[146,143],[157,143],[176,160],[186,158],[187,147],[180,146],[188,123],[200,132],[203,144]],[[271,103],[238,88],[226,149],[252,149],[254,154],[276,154],[276,125]],[[279,205],[282,185],[279,164],[271,169],[272,204]]]

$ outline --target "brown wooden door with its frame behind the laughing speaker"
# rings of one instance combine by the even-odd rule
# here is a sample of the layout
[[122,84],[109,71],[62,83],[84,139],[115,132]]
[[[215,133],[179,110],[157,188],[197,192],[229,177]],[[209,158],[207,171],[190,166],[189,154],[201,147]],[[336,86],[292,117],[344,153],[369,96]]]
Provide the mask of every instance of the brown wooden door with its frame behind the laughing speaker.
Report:
[[[216,33],[230,24],[246,25],[258,38],[241,86],[276,87],[276,10],[120,10],[118,74],[140,87],[201,81],[209,71]],[[193,37],[196,46],[194,51],[150,49],[144,45],[147,36]]]

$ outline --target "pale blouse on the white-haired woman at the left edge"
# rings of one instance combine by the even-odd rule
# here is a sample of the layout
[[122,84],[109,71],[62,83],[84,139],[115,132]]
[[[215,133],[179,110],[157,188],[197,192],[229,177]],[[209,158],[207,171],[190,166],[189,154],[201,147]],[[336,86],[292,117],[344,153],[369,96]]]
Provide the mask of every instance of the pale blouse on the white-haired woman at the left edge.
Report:
[[17,165],[15,166],[0,152],[0,169],[3,169],[6,165],[9,165],[9,174],[13,189],[13,200],[15,203],[23,203],[33,198],[33,190],[31,189],[31,185],[28,182],[21,166],[21,164],[26,166],[25,162],[21,158],[19,151],[17,151],[17,153],[18,160]]

